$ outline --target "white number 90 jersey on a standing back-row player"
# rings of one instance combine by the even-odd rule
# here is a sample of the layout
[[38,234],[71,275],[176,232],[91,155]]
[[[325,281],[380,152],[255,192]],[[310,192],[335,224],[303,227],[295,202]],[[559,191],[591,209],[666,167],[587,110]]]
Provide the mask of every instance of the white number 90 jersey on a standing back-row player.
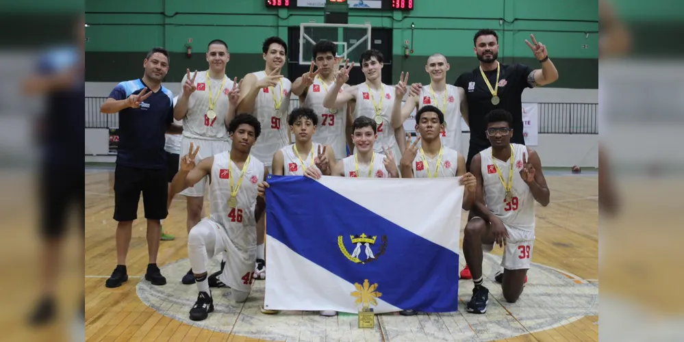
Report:
[[[253,73],[257,81],[266,77],[265,71]],[[251,154],[259,160],[270,165],[275,151],[290,144],[288,138],[288,113],[290,109],[290,89],[292,83],[282,77],[281,83],[275,87],[262,88],[254,103],[254,115],[262,124],[262,133],[257,138],[257,143],[252,147]],[[274,100],[275,97],[275,100]],[[280,108],[276,111],[275,103],[280,102]]]

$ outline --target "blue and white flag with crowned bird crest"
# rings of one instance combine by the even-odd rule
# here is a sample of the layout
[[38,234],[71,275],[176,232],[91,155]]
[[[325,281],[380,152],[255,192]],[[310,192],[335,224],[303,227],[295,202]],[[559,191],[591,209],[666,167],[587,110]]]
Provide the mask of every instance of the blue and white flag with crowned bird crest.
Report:
[[457,311],[458,178],[268,183],[266,308]]

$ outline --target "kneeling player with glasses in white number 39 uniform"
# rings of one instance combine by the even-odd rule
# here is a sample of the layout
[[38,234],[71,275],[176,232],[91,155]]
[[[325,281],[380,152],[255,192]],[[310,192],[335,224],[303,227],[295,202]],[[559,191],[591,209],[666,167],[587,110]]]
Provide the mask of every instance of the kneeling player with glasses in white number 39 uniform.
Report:
[[495,109],[485,116],[487,139],[492,145],[477,155],[470,172],[477,179],[472,218],[464,231],[464,256],[474,282],[470,313],[485,313],[489,290],[482,285],[483,249],[504,248],[501,266],[503,297],[516,302],[522,293],[535,240],[535,201],[546,207],[550,192],[539,155],[521,144],[511,144],[513,116]]

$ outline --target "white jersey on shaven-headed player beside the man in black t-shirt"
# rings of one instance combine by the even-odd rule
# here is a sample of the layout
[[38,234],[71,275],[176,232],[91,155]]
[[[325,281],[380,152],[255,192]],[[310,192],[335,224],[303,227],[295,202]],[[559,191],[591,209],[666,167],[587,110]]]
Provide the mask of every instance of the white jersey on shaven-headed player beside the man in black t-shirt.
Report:
[[418,109],[433,105],[438,107],[444,114],[445,130],[442,131],[442,145],[454,150],[461,148],[461,101],[458,90],[455,86],[446,85],[446,91],[435,92],[434,96],[430,91],[430,85],[423,86],[418,98]]

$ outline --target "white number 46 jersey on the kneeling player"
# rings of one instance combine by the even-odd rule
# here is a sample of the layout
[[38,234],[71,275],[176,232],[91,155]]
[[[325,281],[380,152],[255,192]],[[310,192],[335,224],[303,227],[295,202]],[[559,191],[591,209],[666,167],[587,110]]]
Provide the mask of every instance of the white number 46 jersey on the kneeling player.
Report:
[[233,176],[233,186],[237,186],[242,168],[238,168],[233,161],[229,163],[229,156],[229,151],[214,155],[210,218],[226,229],[228,238],[235,246],[251,248],[256,246],[257,241],[254,209],[257,205],[257,184],[264,180],[264,163],[254,156],[249,158],[238,190],[238,205],[231,208],[228,205],[231,194],[229,176]]

